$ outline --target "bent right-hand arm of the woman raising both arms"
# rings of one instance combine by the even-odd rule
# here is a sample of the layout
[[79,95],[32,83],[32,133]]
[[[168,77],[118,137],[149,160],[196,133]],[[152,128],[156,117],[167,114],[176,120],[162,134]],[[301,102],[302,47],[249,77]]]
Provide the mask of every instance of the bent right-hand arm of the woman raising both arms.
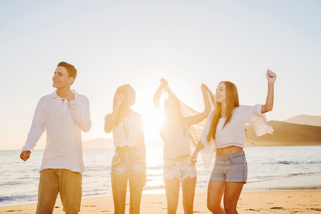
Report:
[[185,123],[188,126],[203,121],[204,119],[207,118],[207,115],[211,111],[211,104],[210,104],[210,99],[209,99],[209,95],[208,95],[209,88],[203,83],[200,86],[200,88],[202,89],[202,93],[203,93],[204,111],[200,112],[199,114],[193,115],[193,116],[187,116],[185,118]]

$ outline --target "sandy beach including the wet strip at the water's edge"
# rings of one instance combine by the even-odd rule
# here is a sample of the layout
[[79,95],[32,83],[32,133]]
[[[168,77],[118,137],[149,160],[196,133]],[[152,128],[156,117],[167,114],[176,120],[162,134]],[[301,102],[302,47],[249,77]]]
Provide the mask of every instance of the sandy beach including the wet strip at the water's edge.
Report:
[[[237,207],[239,213],[321,213],[321,175],[280,178],[245,184]],[[181,189],[182,190],[182,189]],[[196,189],[194,213],[211,213],[207,209],[207,188]],[[150,193],[153,192],[153,193]],[[129,213],[127,196],[126,213]],[[144,191],[141,213],[166,214],[165,190]],[[223,206],[223,202],[222,202]],[[64,214],[62,203],[57,200],[54,214]],[[33,214],[36,202],[0,205],[0,214]],[[84,197],[80,213],[113,213],[112,196]],[[184,213],[182,193],[177,213]]]

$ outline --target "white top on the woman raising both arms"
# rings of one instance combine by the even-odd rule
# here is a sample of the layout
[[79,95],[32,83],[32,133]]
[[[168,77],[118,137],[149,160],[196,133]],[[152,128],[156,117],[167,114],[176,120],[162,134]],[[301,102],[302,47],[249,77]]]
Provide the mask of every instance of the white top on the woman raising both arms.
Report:
[[190,132],[186,127],[184,135],[183,129],[171,129],[163,126],[160,135],[164,141],[164,158],[175,158],[185,154],[190,154]]

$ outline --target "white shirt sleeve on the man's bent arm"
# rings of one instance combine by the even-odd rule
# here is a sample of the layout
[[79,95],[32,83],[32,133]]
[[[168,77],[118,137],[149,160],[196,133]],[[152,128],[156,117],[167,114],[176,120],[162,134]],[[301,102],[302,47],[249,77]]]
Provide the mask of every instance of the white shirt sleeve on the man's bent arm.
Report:
[[[81,97],[82,96],[82,97]],[[89,100],[86,96],[77,95],[76,98],[69,102],[70,111],[77,122],[78,127],[87,132],[91,128]]]

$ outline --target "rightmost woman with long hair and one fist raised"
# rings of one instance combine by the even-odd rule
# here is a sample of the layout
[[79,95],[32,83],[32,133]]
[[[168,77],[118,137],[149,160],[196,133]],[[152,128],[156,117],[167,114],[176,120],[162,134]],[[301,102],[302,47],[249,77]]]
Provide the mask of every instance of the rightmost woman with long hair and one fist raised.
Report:
[[[272,110],[276,74],[268,70],[266,77],[268,95],[265,105],[240,106],[236,86],[231,82],[220,82],[216,88],[214,110],[209,114],[200,138],[202,143],[198,143],[194,151],[197,153],[208,144],[214,144],[216,148],[207,195],[207,206],[213,213],[237,213],[237,201],[247,182],[247,162],[243,151],[245,125],[252,125],[258,136],[273,132],[263,113]],[[223,194],[224,208],[220,206]]]

